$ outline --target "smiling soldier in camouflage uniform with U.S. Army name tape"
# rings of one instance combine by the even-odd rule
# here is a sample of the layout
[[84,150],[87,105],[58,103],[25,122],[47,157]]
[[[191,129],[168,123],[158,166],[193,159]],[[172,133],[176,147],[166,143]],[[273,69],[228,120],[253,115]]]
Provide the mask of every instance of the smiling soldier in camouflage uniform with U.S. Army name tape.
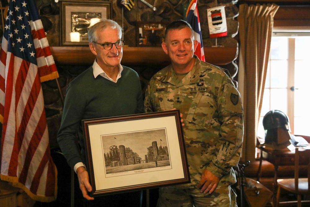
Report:
[[150,80],[145,112],[176,108],[183,133],[191,183],[161,187],[157,206],[237,206],[230,185],[236,182],[243,140],[241,97],[227,70],[200,61],[191,26],[167,26],[162,48],[171,65]]

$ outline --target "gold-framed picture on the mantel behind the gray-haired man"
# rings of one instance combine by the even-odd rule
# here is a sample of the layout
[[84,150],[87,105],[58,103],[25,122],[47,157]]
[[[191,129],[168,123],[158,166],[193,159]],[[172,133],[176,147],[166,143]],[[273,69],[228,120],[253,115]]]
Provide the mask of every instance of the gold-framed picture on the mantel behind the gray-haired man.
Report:
[[111,16],[112,2],[60,1],[61,46],[88,45],[87,29]]

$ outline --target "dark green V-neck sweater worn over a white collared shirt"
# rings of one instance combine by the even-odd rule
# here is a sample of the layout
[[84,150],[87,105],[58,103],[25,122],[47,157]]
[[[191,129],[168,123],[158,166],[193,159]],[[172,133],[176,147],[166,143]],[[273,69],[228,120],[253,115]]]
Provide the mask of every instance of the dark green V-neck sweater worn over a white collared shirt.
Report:
[[[68,84],[57,140],[70,167],[86,164],[82,120],[143,113],[143,96],[138,74],[123,66],[114,83],[93,74],[90,67]],[[81,150],[77,144],[77,138]]]

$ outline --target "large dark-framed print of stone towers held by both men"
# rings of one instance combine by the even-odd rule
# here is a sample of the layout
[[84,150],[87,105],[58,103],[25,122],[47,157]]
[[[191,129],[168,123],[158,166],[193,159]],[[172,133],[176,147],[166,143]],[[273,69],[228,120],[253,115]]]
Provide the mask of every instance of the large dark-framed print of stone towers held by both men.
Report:
[[91,196],[190,182],[179,115],[82,120]]

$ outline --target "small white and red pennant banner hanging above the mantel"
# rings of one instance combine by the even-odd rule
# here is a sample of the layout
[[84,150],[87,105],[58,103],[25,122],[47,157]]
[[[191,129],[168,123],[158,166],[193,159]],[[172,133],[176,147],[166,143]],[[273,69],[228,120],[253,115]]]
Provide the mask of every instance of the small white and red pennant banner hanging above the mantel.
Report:
[[225,7],[207,9],[210,38],[227,36]]

